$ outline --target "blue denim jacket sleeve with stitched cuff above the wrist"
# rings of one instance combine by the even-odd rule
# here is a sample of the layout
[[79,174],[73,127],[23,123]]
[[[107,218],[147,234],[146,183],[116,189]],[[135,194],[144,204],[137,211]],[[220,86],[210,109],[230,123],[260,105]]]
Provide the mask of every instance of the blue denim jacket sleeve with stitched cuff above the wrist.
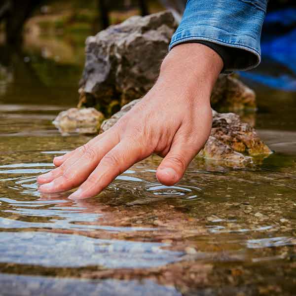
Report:
[[187,0],[169,49],[180,43],[206,40],[235,51],[226,72],[249,70],[261,60],[260,36],[267,0]]

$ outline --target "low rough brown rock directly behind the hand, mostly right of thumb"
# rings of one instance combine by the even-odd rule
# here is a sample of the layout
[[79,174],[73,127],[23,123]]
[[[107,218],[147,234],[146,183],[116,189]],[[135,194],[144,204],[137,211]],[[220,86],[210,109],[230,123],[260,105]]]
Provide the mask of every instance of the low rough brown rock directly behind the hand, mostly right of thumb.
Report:
[[[134,100],[105,120],[100,132],[113,126],[120,117],[140,100]],[[231,167],[252,165],[255,160],[268,156],[271,150],[259,139],[256,131],[248,123],[242,122],[234,113],[218,113],[213,110],[211,136],[198,156],[205,159],[222,161]],[[256,159],[253,157],[256,156]]]

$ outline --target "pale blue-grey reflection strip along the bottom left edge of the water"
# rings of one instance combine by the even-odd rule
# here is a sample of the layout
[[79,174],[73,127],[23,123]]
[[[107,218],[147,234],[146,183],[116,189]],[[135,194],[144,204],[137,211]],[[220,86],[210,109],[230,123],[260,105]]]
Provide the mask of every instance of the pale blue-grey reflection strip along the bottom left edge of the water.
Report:
[[[13,290],[12,286],[18,283]],[[157,285],[151,280],[73,280],[52,277],[30,277],[2,275],[0,277],[1,292],[7,296],[72,296],[104,295],[104,296],[181,296],[175,288]]]

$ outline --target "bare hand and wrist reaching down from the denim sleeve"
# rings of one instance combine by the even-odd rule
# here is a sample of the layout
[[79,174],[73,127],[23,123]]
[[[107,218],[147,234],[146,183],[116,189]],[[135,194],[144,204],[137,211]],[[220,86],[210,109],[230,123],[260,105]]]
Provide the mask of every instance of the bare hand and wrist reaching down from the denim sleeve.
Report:
[[210,135],[210,95],[222,67],[221,57],[205,45],[175,46],[147,95],[111,129],[55,157],[57,168],[37,178],[39,191],[55,193],[79,186],[69,198],[94,196],[152,153],[164,157],[156,172],[158,181],[179,182]]

